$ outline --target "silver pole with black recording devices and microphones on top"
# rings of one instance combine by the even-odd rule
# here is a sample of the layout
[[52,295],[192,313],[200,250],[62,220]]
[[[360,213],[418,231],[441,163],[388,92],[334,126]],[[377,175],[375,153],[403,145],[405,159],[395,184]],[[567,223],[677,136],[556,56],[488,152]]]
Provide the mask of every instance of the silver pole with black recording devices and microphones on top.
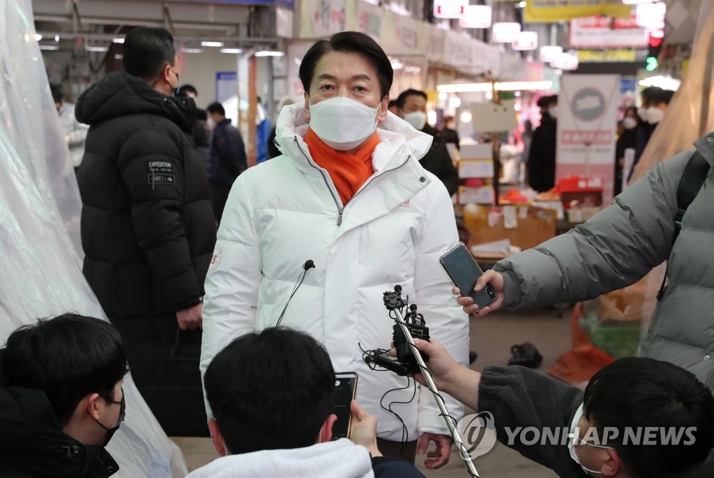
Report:
[[[439,391],[436,389],[434,380],[431,377],[431,372],[426,367],[428,356],[420,352],[414,344],[415,337],[421,340],[429,340],[429,329],[426,327],[426,321],[423,315],[416,312],[416,304],[407,307],[409,299],[407,298],[406,302],[402,299],[401,290],[400,285],[395,285],[394,292],[386,292],[383,294],[384,306],[389,311],[389,317],[396,322],[394,324],[392,339],[397,356],[392,357],[389,354],[366,352],[364,360],[368,363],[373,362],[375,365],[380,365],[398,375],[415,375],[421,373],[428,389],[431,390],[434,396],[436,405],[439,407],[439,416],[446,422],[446,427],[453,438],[454,444],[456,444],[458,448],[459,454],[461,454],[461,459],[466,463],[468,474],[470,474],[471,477],[478,478],[479,474],[478,471],[476,471],[476,465],[473,464],[473,460],[469,456],[466,446],[463,444],[461,435],[458,434],[458,430],[456,429],[456,420],[449,415],[446,409],[446,402],[444,402],[443,397],[441,397]],[[408,308],[408,312],[403,315],[405,308]]]

